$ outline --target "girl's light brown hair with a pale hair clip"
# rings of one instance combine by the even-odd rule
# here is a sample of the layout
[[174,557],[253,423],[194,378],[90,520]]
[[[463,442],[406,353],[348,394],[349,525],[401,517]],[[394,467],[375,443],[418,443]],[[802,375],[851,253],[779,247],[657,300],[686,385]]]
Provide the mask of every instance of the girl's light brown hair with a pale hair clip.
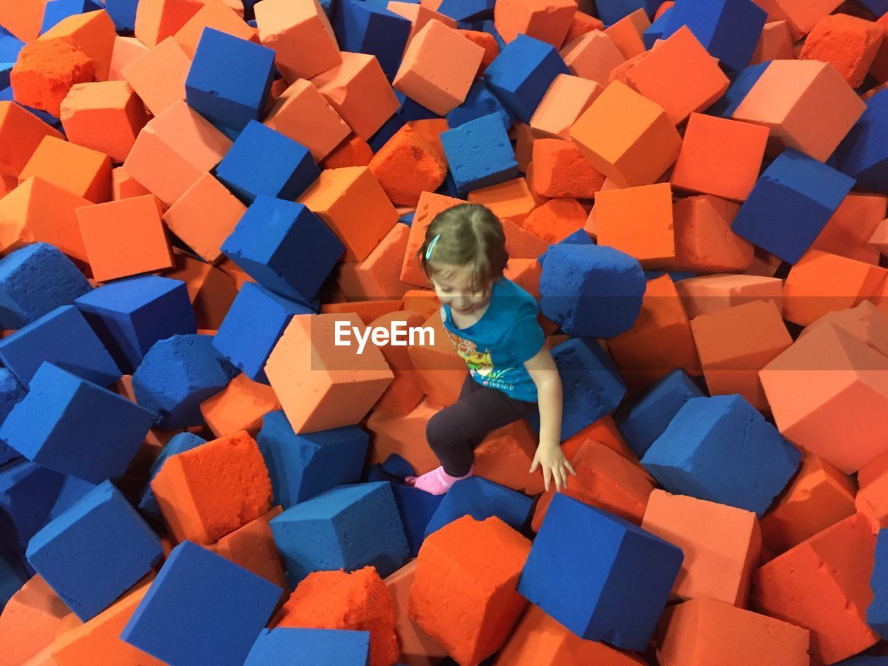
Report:
[[[425,258],[426,250],[439,234],[432,256]],[[503,275],[509,261],[503,223],[480,203],[460,203],[442,210],[426,229],[425,240],[416,258],[429,278],[432,274],[452,273],[441,270],[439,266],[442,264],[469,266],[472,290],[486,288]]]

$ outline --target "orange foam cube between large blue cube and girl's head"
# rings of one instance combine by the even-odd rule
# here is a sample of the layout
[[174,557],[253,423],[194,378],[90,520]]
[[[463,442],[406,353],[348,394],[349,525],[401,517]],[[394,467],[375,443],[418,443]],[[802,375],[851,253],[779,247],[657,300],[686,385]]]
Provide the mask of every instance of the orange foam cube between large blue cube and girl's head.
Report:
[[397,211],[369,167],[323,170],[297,201],[343,242],[343,261],[366,259],[398,222]]

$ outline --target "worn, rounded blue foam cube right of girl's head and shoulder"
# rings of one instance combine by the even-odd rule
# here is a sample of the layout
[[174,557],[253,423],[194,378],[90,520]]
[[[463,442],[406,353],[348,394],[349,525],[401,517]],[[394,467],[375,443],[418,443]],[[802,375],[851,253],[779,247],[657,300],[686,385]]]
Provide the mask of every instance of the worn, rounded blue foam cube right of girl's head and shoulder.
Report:
[[646,289],[637,258],[607,245],[561,242],[545,252],[540,310],[569,336],[614,337],[635,324]]

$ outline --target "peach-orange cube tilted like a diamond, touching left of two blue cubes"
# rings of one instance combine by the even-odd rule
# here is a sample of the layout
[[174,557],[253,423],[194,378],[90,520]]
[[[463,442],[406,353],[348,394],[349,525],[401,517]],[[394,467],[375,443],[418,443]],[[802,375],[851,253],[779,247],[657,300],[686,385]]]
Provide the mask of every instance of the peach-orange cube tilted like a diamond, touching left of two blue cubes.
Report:
[[247,207],[226,186],[204,173],[163,213],[163,222],[212,264],[222,258],[222,243],[246,211]]

